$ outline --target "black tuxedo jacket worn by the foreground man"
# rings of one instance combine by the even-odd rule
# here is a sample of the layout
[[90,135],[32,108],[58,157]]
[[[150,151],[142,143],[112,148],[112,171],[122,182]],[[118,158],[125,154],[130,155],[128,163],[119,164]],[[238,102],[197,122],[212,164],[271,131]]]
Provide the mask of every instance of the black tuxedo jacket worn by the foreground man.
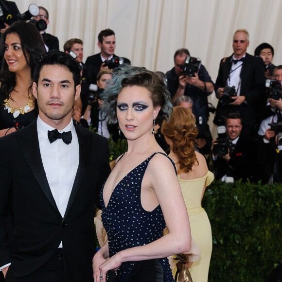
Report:
[[16,277],[39,269],[62,241],[68,281],[93,281],[93,220],[110,172],[108,144],[106,138],[74,126],[79,166],[64,218],[43,168],[36,121],[0,138],[0,265],[11,263],[9,271]]

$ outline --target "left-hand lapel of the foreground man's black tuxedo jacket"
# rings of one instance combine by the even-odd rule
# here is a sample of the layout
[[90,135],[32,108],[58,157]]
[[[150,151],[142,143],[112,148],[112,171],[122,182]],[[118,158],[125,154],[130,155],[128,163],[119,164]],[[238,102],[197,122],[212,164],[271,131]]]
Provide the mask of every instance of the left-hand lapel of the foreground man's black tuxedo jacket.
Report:
[[37,121],[35,120],[26,129],[22,129],[22,135],[18,136],[19,144],[21,145],[23,155],[32,172],[34,173],[41,189],[43,190],[44,194],[51,202],[53,207],[59,212],[43,167],[40,155],[36,122]]

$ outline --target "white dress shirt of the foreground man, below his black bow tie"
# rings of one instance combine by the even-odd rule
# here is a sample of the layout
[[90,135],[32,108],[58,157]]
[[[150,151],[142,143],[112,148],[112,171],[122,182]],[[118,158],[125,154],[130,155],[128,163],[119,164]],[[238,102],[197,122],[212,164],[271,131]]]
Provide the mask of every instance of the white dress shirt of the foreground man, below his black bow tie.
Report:
[[[57,208],[64,217],[79,164],[79,145],[72,120],[59,130],[60,133],[71,131],[72,140],[68,145],[62,139],[50,143],[48,130],[53,129],[38,117],[37,132],[43,167]],[[62,247],[62,242],[59,247]]]

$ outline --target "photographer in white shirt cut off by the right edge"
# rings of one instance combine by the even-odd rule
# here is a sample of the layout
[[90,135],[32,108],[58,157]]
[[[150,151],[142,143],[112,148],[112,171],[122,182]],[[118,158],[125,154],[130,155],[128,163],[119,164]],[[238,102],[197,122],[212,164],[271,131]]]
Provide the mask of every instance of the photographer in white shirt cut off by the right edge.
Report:
[[[282,81],[282,66],[274,69],[274,77],[277,82]],[[260,124],[257,139],[258,172],[256,180],[263,183],[282,182],[282,89],[275,86],[269,90],[268,101],[272,115]]]

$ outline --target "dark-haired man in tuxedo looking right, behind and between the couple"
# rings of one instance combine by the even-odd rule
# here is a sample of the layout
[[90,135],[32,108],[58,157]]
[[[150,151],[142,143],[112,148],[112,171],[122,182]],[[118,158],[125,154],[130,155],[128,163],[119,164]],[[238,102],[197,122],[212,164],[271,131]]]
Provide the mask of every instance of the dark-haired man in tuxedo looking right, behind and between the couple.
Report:
[[[119,57],[115,53],[116,49],[116,36],[111,29],[102,30],[98,35],[98,47],[101,49],[101,53],[89,56],[86,59],[85,64],[93,66],[95,69],[95,76],[92,83],[96,84],[97,74],[103,69],[112,69],[106,64],[106,60],[110,60],[114,57]],[[130,60],[124,58],[124,64],[130,65]]]

